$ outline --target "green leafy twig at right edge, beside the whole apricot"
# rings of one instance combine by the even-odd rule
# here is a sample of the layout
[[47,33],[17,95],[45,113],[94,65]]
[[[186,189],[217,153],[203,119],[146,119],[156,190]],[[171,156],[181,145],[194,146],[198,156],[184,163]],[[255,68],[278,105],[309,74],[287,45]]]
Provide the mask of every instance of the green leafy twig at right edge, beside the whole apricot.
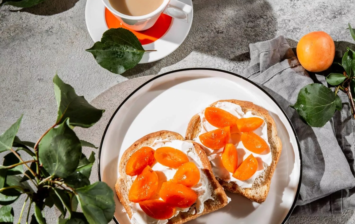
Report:
[[[349,30],[351,37],[355,40],[355,32],[350,23]],[[348,95],[355,119],[355,51],[350,48],[346,49],[342,64],[337,63],[344,69],[343,73],[330,73],[326,77],[327,83],[334,86],[335,91],[333,92],[331,88],[322,84],[308,84],[300,90],[295,105],[291,106],[312,127],[324,126],[333,117],[335,110],[342,109],[339,91]]]

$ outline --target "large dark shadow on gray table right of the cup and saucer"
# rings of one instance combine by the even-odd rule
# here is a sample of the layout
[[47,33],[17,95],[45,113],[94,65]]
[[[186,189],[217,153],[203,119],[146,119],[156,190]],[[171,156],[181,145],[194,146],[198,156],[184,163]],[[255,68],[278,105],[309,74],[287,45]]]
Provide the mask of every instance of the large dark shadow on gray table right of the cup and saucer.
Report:
[[266,0],[193,0],[191,30],[181,46],[162,60],[137,65],[122,75],[134,78],[158,73],[192,51],[228,60],[247,60],[249,43],[272,39],[276,26],[272,7]]

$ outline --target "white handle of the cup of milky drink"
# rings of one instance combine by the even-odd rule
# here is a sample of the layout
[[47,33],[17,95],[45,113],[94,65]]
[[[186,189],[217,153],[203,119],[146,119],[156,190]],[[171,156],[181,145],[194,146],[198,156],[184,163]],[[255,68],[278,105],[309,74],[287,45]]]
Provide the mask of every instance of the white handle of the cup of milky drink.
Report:
[[189,22],[189,14],[191,12],[192,6],[178,0],[170,0],[163,13],[178,20]]

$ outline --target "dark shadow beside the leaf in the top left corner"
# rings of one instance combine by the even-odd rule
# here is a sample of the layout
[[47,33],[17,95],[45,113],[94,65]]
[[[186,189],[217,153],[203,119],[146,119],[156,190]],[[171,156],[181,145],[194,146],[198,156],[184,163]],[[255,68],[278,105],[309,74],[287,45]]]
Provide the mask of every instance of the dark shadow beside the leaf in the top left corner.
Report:
[[78,1],[79,0],[45,0],[33,7],[13,11],[28,12],[41,16],[51,16],[71,9]]

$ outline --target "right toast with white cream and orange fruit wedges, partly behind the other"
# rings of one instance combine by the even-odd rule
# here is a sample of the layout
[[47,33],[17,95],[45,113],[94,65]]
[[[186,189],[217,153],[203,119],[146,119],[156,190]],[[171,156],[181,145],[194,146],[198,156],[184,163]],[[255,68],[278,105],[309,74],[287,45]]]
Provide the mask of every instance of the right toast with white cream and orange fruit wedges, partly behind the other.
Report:
[[191,118],[185,140],[206,151],[225,190],[255,202],[266,200],[282,151],[266,109],[248,101],[219,100]]

